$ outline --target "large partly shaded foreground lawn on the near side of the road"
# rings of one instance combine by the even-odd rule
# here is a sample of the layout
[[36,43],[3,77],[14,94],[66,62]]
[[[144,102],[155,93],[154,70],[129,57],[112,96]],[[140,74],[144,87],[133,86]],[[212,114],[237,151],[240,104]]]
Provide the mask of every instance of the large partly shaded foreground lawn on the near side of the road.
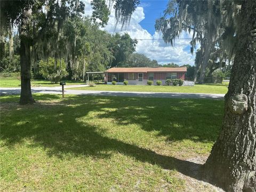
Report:
[[222,100],[34,97],[1,97],[0,191],[189,191],[179,172],[223,116]]

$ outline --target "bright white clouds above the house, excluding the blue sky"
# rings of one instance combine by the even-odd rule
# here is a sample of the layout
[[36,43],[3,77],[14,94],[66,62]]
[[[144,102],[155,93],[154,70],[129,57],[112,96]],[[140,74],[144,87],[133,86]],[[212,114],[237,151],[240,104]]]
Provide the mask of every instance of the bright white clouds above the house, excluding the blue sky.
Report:
[[[92,12],[90,0],[85,0],[86,12]],[[154,40],[162,38],[162,34],[155,33],[151,35],[146,29],[143,29],[139,22],[145,19],[143,7],[139,6],[134,11],[131,17],[130,25],[124,27],[118,23],[116,26],[115,10],[111,9],[108,25],[102,30],[106,30],[109,33],[128,33],[132,38],[137,39],[150,39],[150,40],[138,40],[136,51],[147,55],[150,59],[155,59],[159,64],[174,62],[178,65],[190,64],[194,65],[195,54],[191,55],[190,51],[185,50],[189,46],[190,39],[176,39],[175,46],[171,47],[170,44],[165,44],[163,40]],[[180,38],[190,38],[192,34],[183,32]]]

